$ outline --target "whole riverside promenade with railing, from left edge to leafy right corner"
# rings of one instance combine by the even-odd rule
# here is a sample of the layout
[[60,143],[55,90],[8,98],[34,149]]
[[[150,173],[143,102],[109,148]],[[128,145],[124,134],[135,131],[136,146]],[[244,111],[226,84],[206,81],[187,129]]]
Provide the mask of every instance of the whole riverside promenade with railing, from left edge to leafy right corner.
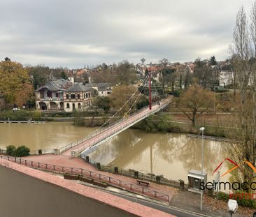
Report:
[[[166,207],[171,209],[176,209],[184,216],[230,216],[227,213],[227,202],[222,200],[216,200],[212,197],[207,197],[204,195],[204,209],[200,210],[200,196],[197,193],[192,193],[187,190],[179,190],[177,188],[171,188],[169,186],[163,186],[150,182],[148,187],[138,185],[136,179],[125,177],[119,174],[112,174],[108,172],[102,172],[96,170],[90,163],[85,162],[82,158],[74,158],[71,156],[64,155],[41,155],[41,156],[28,156],[24,158],[14,158],[11,156],[2,155],[0,158],[20,163],[27,167],[34,167],[40,170],[45,170],[48,172],[71,172],[70,168],[73,168],[73,173],[80,173],[82,170],[87,170],[92,173],[93,179],[101,177],[101,181],[108,181],[104,178],[111,178],[111,185],[114,187],[122,188],[123,190],[129,190],[136,194],[141,194],[146,197],[151,197],[152,199],[159,200],[166,204]],[[15,160],[14,160],[15,159]],[[33,162],[33,163],[32,163]],[[55,171],[52,170],[54,165]],[[63,170],[63,171],[62,171]],[[97,176],[95,176],[97,174]],[[115,180],[122,181],[121,185],[116,185]],[[132,189],[129,188],[132,185]],[[140,192],[143,189],[143,192]],[[157,197],[152,193],[157,193]],[[164,197],[161,197],[164,196]],[[169,198],[166,200],[166,195]],[[160,197],[159,197],[160,196]],[[161,206],[164,206],[161,205]],[[167,208],[168,209],[168,208]],[[248,207],[239,207],[239,211],[236,217],[251,216],[256,210],[250,209]]]

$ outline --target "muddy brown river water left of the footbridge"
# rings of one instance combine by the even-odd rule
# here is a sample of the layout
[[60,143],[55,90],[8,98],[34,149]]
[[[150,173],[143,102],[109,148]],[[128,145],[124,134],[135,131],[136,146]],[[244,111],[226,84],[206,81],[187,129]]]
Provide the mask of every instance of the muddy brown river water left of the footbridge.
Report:
[[0,124],[0,148],[26,145],[31,150],[62,147],[90,134],[95,128],[73,126],[71,122],[45,124]]

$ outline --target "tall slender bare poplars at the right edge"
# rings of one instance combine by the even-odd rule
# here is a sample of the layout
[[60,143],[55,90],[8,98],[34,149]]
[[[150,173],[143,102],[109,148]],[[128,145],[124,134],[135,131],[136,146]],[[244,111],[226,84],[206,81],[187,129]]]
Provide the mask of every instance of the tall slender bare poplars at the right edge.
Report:
[[[241,163],[243,170],[243,181],[251,183],[253,181],[253,172],[243,166],[243,160],[246,158],[255,165],[256,144],[255,144],[255,89],[251,87],[253,77],[253,69],[255,67],[255,59],[253,59],[252,43],[256,45],[256,5],[253,4],[251,14],[252,24],[250,25],[250,33],[248,30],[248,21],[246,12],[241,7],[236,14],[236,24],[233,32],[232,68],[236,75],[238,84],[239,100],[236,101],[236,111],[238,117],[239,131],[236,133],[236,139],[239,144],[233,147],[232,154]],[[250,40],[250,35],[251,39]],[[254,86],[255,84],[253,84]]]

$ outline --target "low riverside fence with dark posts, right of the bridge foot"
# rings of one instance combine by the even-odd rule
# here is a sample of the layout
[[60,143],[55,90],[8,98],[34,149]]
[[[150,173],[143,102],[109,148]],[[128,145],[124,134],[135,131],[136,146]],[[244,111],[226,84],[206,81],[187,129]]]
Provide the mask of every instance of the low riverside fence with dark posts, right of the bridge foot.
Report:
[[96,167],[98,170],[101,170],[101,171],[111,172],[114,174],[120,174],[125,177],[131,177],[134,179],[143,179],[145,181],[151,181],[151,182],[155,182],[157,184],[162,184],[162,185],[170,186],[170,187],[174,187],[174,188],[183,188],[185,190],[188,189],[188,184],[184,183],[183,180],[176,181],[173,179],[167,179],[162,175],[157,176],[155,174],[145,174],[143,172],[138,172],[136,170],[124,170],[119,167],[101,165],[101,163],[95,162],[94,160],[90,159],[88,156],[83,159],[85,159],[87,163],[92,164],[94,167]]

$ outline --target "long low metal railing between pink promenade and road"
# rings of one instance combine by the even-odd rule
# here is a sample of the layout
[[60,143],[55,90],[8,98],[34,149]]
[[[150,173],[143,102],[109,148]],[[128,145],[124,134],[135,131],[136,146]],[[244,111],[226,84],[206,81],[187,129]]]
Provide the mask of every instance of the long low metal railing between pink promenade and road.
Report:
[[165,193],[161,193],[157,190],[152,190],[149,188],[145,188],[142,186],[138,186],[136,184],[131,184],[126,181],[122,181],[120,179],[115,179],[113,177],[108,177],[105,174],[100,174],[98,172],[85,170],[83,168],[76,168],[76,167],[62,167],[59,165],[52,165],[48,163],[39,163],[31,160],[24,160],[22,158],[17,157],[10,157],[10,156],[0,156],[1,159],[9,160],[15,163],[20,163],[21,165],[26,165],[29,167],[38,168],[41,170],[47,170],[49,172],[63,172],[63,173],[71,173],[71,174],[82,174],[86,177],[91,177],[92,179],[99,179],[101,181],[105,181],[108,184],[119,187],[125,188],[125,190],[131,190],[134,193],[141,193],[143,195],[147,195],[149,197],[155,197],[160,200],[169,202],[169,195]]

